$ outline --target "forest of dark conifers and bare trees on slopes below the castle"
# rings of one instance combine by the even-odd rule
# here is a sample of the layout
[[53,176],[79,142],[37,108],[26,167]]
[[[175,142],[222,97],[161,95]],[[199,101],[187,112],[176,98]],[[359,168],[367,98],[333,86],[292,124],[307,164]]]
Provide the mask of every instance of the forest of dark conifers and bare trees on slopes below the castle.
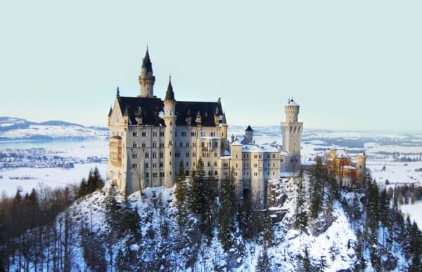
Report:
[[[262,250],[257,252],[255,271],[282,267],[324,271],[326,257],[312,256],[307,247],[284,258],[285,264],[277,263],[271,252],[280,243],[275,237],[289,229],[309,236],[323,234],[333,220],[333,206],[339,203],[357,237],[347,244],[355,253],[351,270],[395,270],[402,257],[405,264],[400,268],[422,271],[422,233],[399,210],[402,202],[420,199],[417,186],[381,190],[367,175],[364,191],[345,191],[317,160],[314,168],[293,178],[294,192],[283,198],[294,203],[291,220],[286,217],[274,222],[269,209],[257,207],[248,197],[236,197],[233,172],[218,185],[217,180],[205,177],[203,169],[200,161],[186,178],[182,162],[169,200],[155,191],[150,195],[139,191],[139,203],[116,186],[105,189],[97,169],[79,186],[60,190],[40,186],[25,196],[18,191],[14,198],[3,197],[1,268],[182,271],[191,267],[226,271],[240,265],[238,260],[245,258],[247,245],[257,245]],[[77,210],[85,199],[98,205]],[[95,212],[99,210],[104,217],[98,223]]]

